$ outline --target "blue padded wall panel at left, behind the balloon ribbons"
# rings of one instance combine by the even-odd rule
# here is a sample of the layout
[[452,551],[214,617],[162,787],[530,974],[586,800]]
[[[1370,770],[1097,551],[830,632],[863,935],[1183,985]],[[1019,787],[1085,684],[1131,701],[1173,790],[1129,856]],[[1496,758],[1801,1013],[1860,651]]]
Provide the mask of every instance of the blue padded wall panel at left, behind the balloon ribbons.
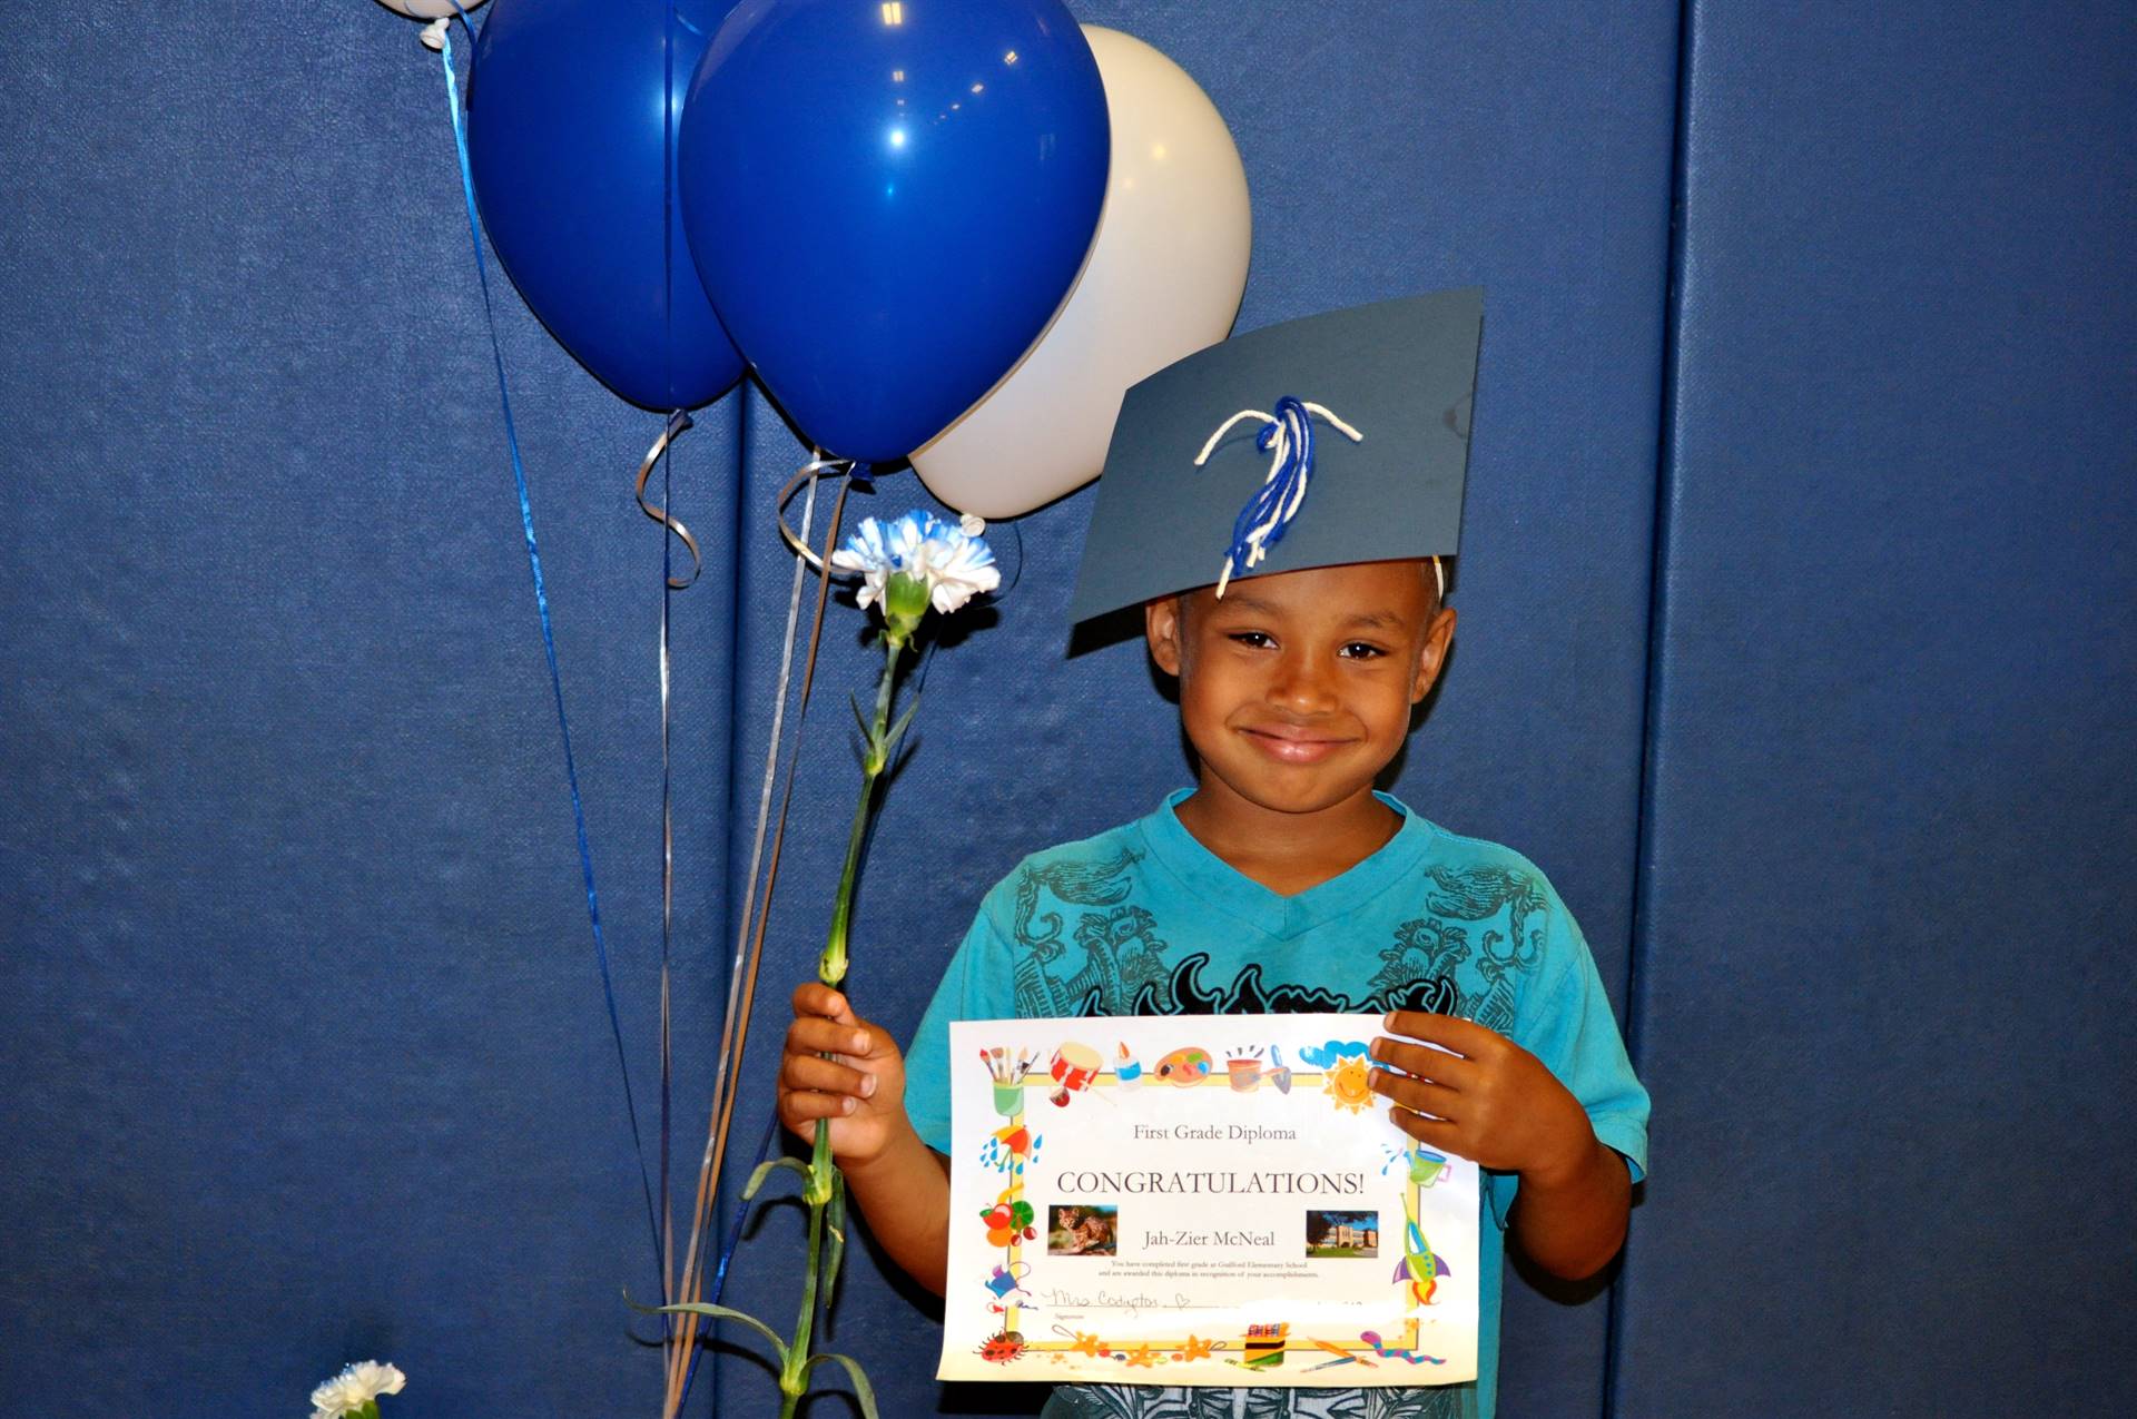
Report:
[[[0,45],[0,1413],[650,1413],[654,1284],[436,58],[374,4]],[[658,421],[502,289],[639,1103]],[[677,455],[733,521],[737,421]],[[682,974],[727,577],[677,601]],[[705,998],[680,1069],[705,1073]]]

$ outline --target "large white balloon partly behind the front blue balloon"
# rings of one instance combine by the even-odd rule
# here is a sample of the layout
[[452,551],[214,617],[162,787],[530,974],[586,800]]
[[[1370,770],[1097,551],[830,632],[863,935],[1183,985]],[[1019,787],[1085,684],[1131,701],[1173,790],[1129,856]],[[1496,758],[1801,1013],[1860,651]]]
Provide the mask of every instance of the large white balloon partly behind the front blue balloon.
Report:
[[1105,207],[1054,323],[912,455],[960,513],[1015,517],[1098,477],[1128,385],[1222,340],[1246,291],[1252,216],[1225,118],[1133,34],[1083,36],[1113,126]]

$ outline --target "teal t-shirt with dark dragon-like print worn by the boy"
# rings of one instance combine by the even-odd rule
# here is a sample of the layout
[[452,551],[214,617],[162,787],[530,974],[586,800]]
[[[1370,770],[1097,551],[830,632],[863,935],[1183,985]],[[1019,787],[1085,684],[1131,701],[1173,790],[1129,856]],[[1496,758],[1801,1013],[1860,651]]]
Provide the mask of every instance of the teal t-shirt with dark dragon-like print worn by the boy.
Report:
[[[1389,1009],[1464,1015],[1534,1054],[1596,1137],[1648,1165],[1648,1090],[1588,942],[1537,868],[1395,799],[1402,827],[1342,876],[1284,898],[1180,825],[1148,818],[1026,857],[987,893],[906,1056],[906,1111],[949,1152],[949,1024],[1058,1015]],[[1485,1173],[1477,1383],[1419,1389],[1062,1387],[1047,1419],[1492,1419],[1504,1218],[1517,1178]]]

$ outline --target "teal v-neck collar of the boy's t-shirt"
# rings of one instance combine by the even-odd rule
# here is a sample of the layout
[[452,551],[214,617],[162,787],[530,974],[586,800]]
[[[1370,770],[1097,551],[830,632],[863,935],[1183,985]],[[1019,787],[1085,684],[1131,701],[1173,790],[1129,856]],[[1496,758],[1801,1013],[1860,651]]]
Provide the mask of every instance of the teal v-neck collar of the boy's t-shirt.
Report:
[[1175,808],[1190,793],[1195,791],[1177,789],[1165,795],[1158,810],[1143,818],[1141,829],[1150,859],[1169,872],[1188,898],[1278,940],[1301,936],[1323,921],[1355,913],[1398,880],[1413,876],[1423,863],[1434,833],[1434,827],[1400,799],[1374,793],[1376,799],[1402,814],[1402,827],[1395,829],[1395,836],[1329,880],[1286,898],[1233,868],[1186,829]]

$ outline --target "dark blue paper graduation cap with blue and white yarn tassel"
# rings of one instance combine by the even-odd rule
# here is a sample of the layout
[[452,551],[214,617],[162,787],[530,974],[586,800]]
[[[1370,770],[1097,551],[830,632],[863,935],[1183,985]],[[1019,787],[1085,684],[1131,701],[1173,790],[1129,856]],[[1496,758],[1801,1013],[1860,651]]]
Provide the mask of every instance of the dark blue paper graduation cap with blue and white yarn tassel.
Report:
[[1308,566],[1453,556],[1483,291],[1235,336],[1128,389],[1068,615]]

